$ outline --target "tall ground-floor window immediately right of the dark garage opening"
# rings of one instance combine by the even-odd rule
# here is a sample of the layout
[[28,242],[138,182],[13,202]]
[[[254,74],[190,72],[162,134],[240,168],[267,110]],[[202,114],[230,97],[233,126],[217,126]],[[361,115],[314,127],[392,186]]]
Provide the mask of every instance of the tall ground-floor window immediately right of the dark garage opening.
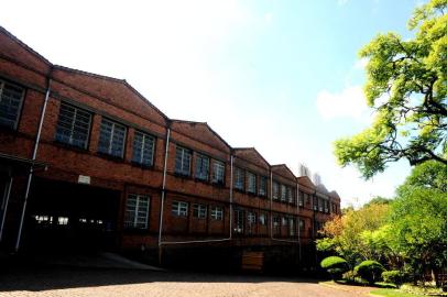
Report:
[[124,227],[146,229],[149,217],[149,197],[130,194],[126,202]]

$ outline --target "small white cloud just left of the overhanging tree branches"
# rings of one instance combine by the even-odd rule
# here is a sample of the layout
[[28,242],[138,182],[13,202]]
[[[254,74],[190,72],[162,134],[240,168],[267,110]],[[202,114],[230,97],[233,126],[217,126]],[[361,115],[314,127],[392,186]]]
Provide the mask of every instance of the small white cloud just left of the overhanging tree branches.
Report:
[[371,112],[360,86],[347,87],[338,94],[321,90],[317,95],[317,109],[326,120],[351,118],[360,121],[370,121],[371,118]]

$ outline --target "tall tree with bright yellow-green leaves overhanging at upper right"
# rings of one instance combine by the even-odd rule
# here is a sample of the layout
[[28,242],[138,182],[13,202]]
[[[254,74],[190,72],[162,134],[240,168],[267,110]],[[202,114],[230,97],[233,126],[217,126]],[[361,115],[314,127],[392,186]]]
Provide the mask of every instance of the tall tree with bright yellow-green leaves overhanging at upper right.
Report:
[[340,165],[355,164],[366,178],[406,158],[447,164],[447,0],[417,8],[403,40],[379,34],[360,51],[367,58],[364,94],[375,110],[372,125],[335,142]]

